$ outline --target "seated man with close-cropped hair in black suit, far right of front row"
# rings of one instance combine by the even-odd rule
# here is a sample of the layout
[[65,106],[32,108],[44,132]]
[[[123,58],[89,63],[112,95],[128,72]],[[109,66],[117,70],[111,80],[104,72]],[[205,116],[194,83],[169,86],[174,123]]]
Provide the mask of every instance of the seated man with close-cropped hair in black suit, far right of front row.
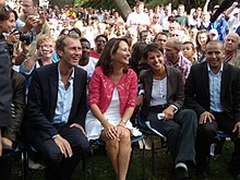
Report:
[[230,170],[240,179],[240,69],[224,62],[220,41],[207,44],[206,60],[192,67],[185,82],[185,106],[199,117],[197,170],[202,178],[209,178],[209,148],[220,130],[235,142]]

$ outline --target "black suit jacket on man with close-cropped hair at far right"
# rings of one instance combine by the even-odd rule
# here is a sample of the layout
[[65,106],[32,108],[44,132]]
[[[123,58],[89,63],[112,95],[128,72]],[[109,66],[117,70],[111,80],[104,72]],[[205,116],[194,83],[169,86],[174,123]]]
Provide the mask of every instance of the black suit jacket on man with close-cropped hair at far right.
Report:
[[[240,69],[224,63],[220,103],[224,111],[231,119],[240,121]],[[185,106],[195,110],[200,117],[204,111],[209,111],[209,79],[207,62],[194,64],[185,82]]]

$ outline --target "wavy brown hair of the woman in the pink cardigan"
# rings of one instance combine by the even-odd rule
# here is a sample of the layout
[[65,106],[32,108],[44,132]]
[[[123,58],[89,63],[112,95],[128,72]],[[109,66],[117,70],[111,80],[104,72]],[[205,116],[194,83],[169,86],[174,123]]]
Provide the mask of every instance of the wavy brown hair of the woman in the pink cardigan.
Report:
[[[127,38],[111,38],[107,44],[105,45],[105,48],[100,55],[100,58],[96,64],[96,67],[101,67],[104,74],[109,76],[113,72],[113,65],[112,65],[112,56],[117,52],[119,49],[119,44],[121,41],[125,41],[129,45],[129,41]],[[128,72],[128,67],[123,70],[123,73]]]

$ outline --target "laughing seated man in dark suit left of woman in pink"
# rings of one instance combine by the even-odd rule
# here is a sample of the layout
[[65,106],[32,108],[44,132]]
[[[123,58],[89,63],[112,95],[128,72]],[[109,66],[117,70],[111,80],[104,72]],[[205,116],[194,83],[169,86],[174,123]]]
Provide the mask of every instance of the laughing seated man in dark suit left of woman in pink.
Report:
[[68,180],[89,149],[83,130],[87,75],[76,67],[82,56],[79,36],[62,36],[56,47],[60,62],[33,74],[24,128],[47,164],[47,179]]

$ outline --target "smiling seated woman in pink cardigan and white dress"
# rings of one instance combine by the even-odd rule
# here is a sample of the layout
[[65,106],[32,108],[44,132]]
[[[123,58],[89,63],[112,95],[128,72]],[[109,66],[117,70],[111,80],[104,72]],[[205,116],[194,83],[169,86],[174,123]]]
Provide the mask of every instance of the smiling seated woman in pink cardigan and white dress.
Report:
[[136,105],[137,76],[128,69],[129,45],[110,39],[89,82],[85,130],[88,140],[101,139],[117,180],[124,180],[131,155],[131,134],[140,132],[129,121]]

